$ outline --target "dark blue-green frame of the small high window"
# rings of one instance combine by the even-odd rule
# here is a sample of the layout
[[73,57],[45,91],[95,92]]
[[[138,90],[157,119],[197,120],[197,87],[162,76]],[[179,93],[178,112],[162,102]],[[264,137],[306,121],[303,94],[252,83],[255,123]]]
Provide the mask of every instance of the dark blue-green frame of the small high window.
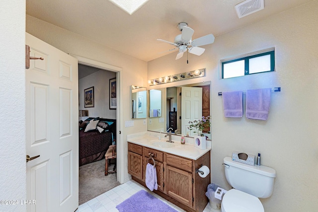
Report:
[[[257,55],[252,55],[252,56],[238,58],[238,59],[227,61],[227,62],[222,62],[222,79],[224,79],[224,64],[244,60],[244,62],[245,62],[244,75],[254,74],[254,73],[249,73],[249,59],[257,58],[257,57],[261,57],[261,56],[265,56],[265,55],[270,55],[270,70],[269,71],[275,71],[275,50],[272,50],[272,51],[260,53]],[[256,72],[256,73],[264,73],[264,72],[269,72],[269,71],[262,71],[262,72]],[[237,77],[237,76],[235,76],[235,77]],[[231,77],[231,78],[233,78],[233,77]]]

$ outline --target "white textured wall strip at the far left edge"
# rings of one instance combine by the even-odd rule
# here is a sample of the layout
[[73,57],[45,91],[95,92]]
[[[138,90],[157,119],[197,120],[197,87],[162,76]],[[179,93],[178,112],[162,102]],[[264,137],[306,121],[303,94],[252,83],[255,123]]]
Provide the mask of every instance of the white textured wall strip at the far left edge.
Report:
[[[25,1],[0,1],[0,200],[26,200]],[[2,205],[0,211],[25,211]]]

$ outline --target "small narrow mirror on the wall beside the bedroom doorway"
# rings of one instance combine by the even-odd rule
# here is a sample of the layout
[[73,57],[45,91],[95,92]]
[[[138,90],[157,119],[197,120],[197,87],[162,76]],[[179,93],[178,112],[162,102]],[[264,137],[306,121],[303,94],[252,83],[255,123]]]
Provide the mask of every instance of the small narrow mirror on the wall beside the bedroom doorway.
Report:
[[147,118],[147,88],[136,85],[131,86],[131,118]]

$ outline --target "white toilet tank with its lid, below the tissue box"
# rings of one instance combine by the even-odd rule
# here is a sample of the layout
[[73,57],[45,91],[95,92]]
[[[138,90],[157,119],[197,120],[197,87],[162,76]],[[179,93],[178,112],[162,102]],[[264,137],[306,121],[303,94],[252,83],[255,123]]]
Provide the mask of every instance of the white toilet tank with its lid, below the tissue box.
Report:
[[232,157],[225,157],[223,162],[225,177],[233,188],[258,198],[271,196],[276,177],[274,169],[263,165],[247,165],[233,161]]

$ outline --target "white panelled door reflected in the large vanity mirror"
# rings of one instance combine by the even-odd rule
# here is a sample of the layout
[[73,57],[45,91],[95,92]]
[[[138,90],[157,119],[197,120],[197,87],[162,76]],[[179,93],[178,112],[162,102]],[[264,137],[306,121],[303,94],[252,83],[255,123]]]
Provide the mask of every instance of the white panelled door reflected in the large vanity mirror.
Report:
[[181,87],[181,134],[193,136],[189,121],[202,119],[202,87]]

